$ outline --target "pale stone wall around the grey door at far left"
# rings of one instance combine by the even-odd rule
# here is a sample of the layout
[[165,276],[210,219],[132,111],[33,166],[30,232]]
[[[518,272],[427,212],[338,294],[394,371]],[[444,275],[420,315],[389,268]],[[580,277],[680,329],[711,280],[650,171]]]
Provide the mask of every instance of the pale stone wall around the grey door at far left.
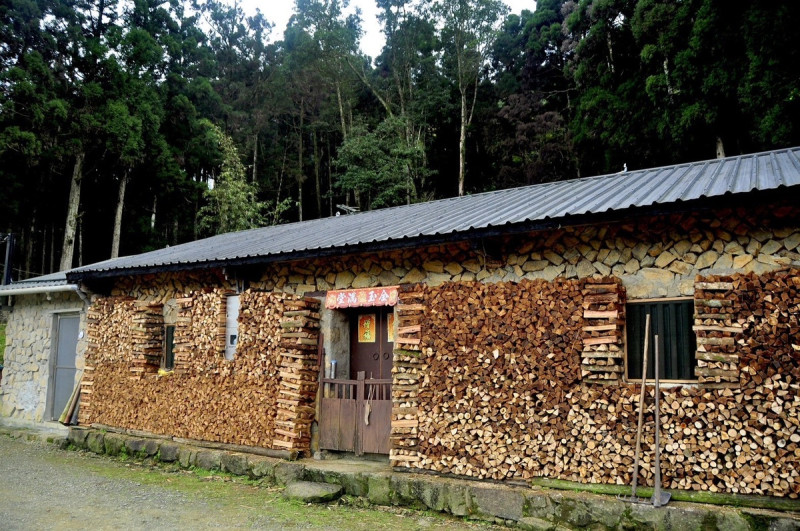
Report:
[[[14,307],[6,327],[3,379],[0,382],[0,415],[22,422],[50,420],[47,415],[48,387],[52,364],[53,315],[77,313],[83,303],[72,292],[14,297]],[[81,314],[80,329],[84,329]],[[85,339],[78,340],[75,359],[76,382],[84,368]],[[61,412],[55,413],[56,416]]]

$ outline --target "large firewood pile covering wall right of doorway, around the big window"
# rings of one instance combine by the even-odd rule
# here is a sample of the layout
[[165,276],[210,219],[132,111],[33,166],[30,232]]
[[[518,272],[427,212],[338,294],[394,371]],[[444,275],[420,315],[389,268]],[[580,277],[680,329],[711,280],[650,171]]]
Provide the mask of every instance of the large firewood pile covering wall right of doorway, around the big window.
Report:
[[[559,279],[429,287],[417,450],[393,464],[480,478],[630,483],[639,389],[580,378],[583,287]],[[699,300],[738,301],[719,306],[730,308],[730,319],[711,312],[715,324],[705,317],[709,306],[698,305],[695,322],[700,337],[734,334],[740,377],[733,387],[709,374],[703,384],[662,390],[665,485],[797,498],[798,271],[702,278],[697,291]],[[702,328],[737,325],[740,332]],[[728,355],[716,349],[727,343],[699,342],[698,352]],[[652,484],[652,388],[647,395],[642,460],[644,483]]]

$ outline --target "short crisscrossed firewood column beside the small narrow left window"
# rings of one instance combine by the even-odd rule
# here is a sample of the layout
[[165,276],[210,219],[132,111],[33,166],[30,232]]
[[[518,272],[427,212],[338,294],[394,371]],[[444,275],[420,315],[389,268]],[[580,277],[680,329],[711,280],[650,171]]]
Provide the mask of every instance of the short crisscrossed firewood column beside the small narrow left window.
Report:
[[159,303],[134,303],[131,373],[137,377],[158,372],[164,352],[164,313]]

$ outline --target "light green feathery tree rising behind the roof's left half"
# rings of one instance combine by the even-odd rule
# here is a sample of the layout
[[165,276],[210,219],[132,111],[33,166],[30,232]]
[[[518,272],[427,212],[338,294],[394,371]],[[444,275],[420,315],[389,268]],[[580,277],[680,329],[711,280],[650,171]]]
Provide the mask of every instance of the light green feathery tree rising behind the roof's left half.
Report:
[[201,230],[222,234],[264,225],[267,205],[257,200],[258,187],[248,183],[239,151],[231,137],[216,126],[222,162],[214,187],[205,192],[208,203],[198,212]]

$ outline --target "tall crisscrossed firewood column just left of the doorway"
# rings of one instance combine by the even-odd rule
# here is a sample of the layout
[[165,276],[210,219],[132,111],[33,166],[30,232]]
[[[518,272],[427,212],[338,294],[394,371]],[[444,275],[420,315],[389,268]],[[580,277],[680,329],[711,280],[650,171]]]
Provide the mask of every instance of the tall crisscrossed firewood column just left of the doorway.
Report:
[[273,448],[308,451],[319,376],[319,307],[316,299],[286,299],[281,319],[280,384]]

